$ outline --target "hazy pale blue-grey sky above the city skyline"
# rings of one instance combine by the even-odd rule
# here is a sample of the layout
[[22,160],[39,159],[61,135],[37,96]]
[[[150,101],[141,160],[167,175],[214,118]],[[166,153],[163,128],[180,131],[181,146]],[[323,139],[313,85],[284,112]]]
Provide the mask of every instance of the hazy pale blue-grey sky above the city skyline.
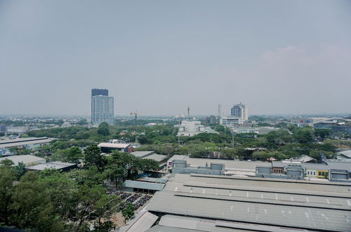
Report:
[[0,115],[351,112],[351,1],[0,0]]

